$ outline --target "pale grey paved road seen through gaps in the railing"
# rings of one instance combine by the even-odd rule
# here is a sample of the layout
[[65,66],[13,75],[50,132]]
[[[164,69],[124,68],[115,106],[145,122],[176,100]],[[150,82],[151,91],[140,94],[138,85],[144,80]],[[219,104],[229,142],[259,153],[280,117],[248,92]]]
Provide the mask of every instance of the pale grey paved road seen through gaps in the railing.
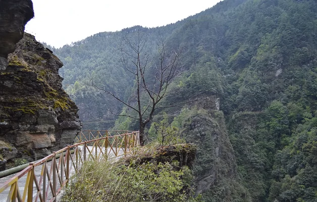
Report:
[[[89,150],[92,151],[93,154],[95,154],[95,149],[92,148],[92,146],[88,146],[89,147]],[[83,149],[81,148],[81,152],[83,154]],[[100,151],[97,151],[97,155],[99,154]],[[103,148],[103,152],[104,152],[104,148]],[[87,151],[88,153],[88,151]],[[89,153],[88,153],[89,154]],[[88,159],[88,154],[86,155],[87,156],[87,159]],[[109,154],[109,157],[110,158],[120,158],[120,155],[122,156],[124,153],[123,153],[123,150],[120,150],[119,151],[119,155],[118,157],[115,157],[115,154],[113,153],[112,150],[110,150],[110,148],[108,148],[108,154]],[[59,160],[57,160],[57,164],[59,164]],[[49,169],[51,168],[51,161],[50,162],[47,162],[47,168],[48,168],[48,171]],[[36,179],[38,180],[39,182],[39,179],[40,179],[40,176],[41,176],[41,170],[42,170],[42,166],[37,166],[35,167],[35,176],[36,176]],[[75,170],[74,168],[72,167],[71,169],[71,175],[75,173]],[[12,177],[14,177],[16,174],[13,174],[13,175],[9,175],[7,177],[3,177],[3,178],[0,178],[0,184],[4,184],[7,180],[11,179]],[[27,174],[24,175],[22,178],[19,179],[19,182],[18,182],[18,186],[19,186],[19,190],[20,190],[20,193],[21,195],[23,195],[23,190],[24,190],[24,186],[25,186],[25,183],[26,183],[26,178],[27,178]],[[63,177],[64,180],[66,179],[65,176]],[[48,181],[46,179],[46,181]],[[46,182],[46,187],[47,187],[47,184],[48,182]],[[59,188],[59,183],[58,183],[58,188]],[[41,187],[42,189],[42,187]],[[48,192],[48,196],[47,196],[47,201],[52,197],[52,194],[51,194],[51,191],[50,191],[50,188],[47,187],[47,192]],[[2,193],[0,193],[0,202],[5,202],[7,201],[7,197],[8,197],[8,194],[9,194],[9,191],[10,191],[10,187],[7,188],[5,191],[3,191]],[[36,189],[36,185],[35,183],[33,183],[33,200],[36,196],[36,192],[37,192],[37,189]],[[39,199],[37,201],[40,201]]]

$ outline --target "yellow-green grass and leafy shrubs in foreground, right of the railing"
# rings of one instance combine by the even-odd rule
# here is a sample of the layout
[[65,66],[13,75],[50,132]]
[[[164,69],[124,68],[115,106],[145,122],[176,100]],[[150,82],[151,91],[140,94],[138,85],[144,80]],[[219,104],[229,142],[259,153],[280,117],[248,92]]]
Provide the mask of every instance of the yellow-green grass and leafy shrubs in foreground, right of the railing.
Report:
[[[186,171],[187,172],[187,171]],[[118,165],[88,161],[69,184],[64,201],[201,201],[189,197],[182,170],[169,163]]]

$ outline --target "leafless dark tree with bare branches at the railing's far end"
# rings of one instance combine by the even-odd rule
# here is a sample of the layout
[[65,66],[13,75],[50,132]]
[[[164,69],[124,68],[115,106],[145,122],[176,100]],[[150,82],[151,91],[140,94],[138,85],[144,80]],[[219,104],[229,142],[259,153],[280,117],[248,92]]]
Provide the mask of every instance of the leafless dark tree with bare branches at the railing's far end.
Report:
[[93,85],[136,112],[137,116],[129,114],[121,116],[138,120],[140,142],[143,145],[146,124],[152,119],[155,110],[165,108],[158,106],[158,104],[168,95],[169,85],[180,73],[181,51],[168,50],[165,40],[161,38],[157,55],[150,61],[150,55],[145,50],[147,37],[144,33],[137,31],[134,39],[125,35],[124,42],[125,47],[120,48],[122,63],[135,79],[134,96],[136,103],[126,102],[114,92],[101,88],[94,83]]

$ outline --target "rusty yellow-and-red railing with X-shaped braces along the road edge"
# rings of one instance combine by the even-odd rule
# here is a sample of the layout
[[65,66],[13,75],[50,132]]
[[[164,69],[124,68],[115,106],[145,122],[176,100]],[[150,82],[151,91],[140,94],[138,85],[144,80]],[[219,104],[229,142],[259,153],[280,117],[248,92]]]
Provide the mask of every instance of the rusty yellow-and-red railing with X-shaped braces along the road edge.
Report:
[[[109,132],[110,130],[99,130],[99,131],[93,130],[93,131],[95,132],[108,131]],[[112,131],[112,132],[118,132],[118,131]],[[55,151],[53,154],[50,154],[44,157],[41,160],[30,163],[29,166],[27,166],[21,172],[17,173],[14,177],[6,181],[3,185],[1,185],[0,193],[2,193],[7,188],[11,187],[10,192],[8,194],[9,200],[7,201],[16,201],[17,199],[18,201],[26,201],[25,199],[27,198],[27,201],[31,202],[33,201],[33,189],[34,189],[34,183],[35,183],[36,189],[37,189],[35,201],[37,201],[38,198],[40,198],[40,201],[46,201],[46,197],[48,193],[47,190],[49,190],[49,188],[51,191],[50,193],[52,194],[52,198],[50,199],[50,201],[56,201],[56,197],[61,191],[61,189],[69,182],[71,169],[74,168],[74,170],[77,171],[80,165],[83,164],[83,162],[87,160],[87,155],[88,155],[88,159],[89,158],[94,159],[94,158],[100,158],[102,155],[104,155],[104,153],[106,155],[110,155],[110,153],[112,153],[113,151],[113,153],[117,157],[119,156],[120,150],[123,151],[123,155],[126,155],[132,147],[140,145],[139,131],[125,130],[121,132],[125,132],[125,133],[119,134],[119,135],[113,135],[113,136],[107,135],[105,137],[100,137],[97,139],[92,139],[92,140],[79,142],[73,145],[66,146],[58,151]],[[80,134],[82,134],[82,132],[80,132]],[[112,141],[112,143],[110,140]],[[100,147],[100,142],[102,143],[101,147]],[[89,147],[87,145],[89,143],[93,143],[91,150],[89,150]],[[123,146],[123,143],[124,143],[124,146]],[[83,154],[81,154],[82,151],[79,151],[80,145],[83,146]],[[71,154],[71,148],[74,148],[73,157]],[[98,148],[99,148],[99,155],[98,155]],[[103,148],[105,149],[104,153],[102,151]],[[108,148],[110,149],[110,151],[108,151]],[[87,153],[87,150],[88,150],[88,153]],[[64,157],[64,153],[65,153],[65,157]],[[56,161],[58,156],[60,156],[59,163],[57,163]],[[53,160],[50,168],[48,168],[47,166],[47,162],[49,160]],[[42,165],[42,171],[41,171],[40,179],[37,180],[34,173],[34,168],[40,165]],[[25,188],[23,190],[23,195],[21,195],[19,187],[18,187],[18,180],[24,177],[25,175],[27,175],[27,180],[24,186]],[[46,181],[46,178],[47,178],[47,181]],[[60,183],[59,188],[57,187],[58,182]],[[42,189],[40,185],[43,186]]]

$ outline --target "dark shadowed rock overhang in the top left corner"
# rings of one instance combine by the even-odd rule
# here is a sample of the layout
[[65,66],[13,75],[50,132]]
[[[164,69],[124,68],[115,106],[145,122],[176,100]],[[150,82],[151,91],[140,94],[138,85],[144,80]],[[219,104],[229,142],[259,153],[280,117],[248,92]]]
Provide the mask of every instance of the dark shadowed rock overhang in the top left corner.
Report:
[[25,24],[34,17],[31,0],[0,0],[0,70],[8,65],[8,54],[23,37]]

